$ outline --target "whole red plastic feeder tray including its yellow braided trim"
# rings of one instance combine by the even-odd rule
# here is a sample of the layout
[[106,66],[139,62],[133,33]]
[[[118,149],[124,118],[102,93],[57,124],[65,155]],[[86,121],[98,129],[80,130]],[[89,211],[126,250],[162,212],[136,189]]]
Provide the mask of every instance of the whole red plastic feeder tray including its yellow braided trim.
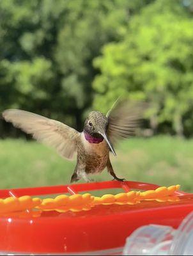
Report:
[[[91,193],[112,188],[123,193],[101,197]],[[142,225],[180,225],[193,210],[193,195],[179,188],[114,180],[0,190],[0,251],[76,254],[116,248],[121,252],[125,239]]]

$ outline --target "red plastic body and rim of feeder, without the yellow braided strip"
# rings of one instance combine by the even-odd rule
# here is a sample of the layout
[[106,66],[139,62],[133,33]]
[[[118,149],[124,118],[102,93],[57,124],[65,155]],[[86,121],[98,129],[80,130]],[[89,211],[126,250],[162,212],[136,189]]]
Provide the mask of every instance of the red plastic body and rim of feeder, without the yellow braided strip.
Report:
[[[98,182],[0,190],[0,198],[20,196],[45,196],[89,192],[93,190],[122,188],[140,191],[159,188],[142,182]],[[140,198],[139,193],[136,194]],[[143,194],[141,194],[143,195]],[[148,224],[169,225],[177,228],[193,210],[193,195],[175,191],[178,200],[143,200],[140,204],[95,204],[87,211],[49,211],[45,209],[0,211],[0,252],[3,253],[98,253],[112,255],[121,253],[126,238],[138,227]],[[93,199],[94,200],[94,199]],[[96,198],[97,201],[97,198]],[[2,201],[3,202],[3,201]],[[38,201],[37,201],[38,202]],[[43,201],[44,202],[44,201]],[[95,202],[95,200],[93,201]],[[15,204],[15,203],[14,203]],[[49,205],[49,204],[48,204]],[[1,208],[0,208],[1,210]],[[97,252],[100,251],[100,252]]]

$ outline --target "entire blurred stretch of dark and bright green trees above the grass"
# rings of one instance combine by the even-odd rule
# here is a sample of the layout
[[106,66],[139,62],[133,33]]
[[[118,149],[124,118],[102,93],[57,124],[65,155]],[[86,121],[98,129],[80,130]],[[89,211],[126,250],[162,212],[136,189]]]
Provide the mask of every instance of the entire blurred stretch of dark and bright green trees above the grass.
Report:
[[90,109],[124,95],[151,102],[154,131],[191,135],[192,10],[192,0],[0,1],[0,111],[81,131]]

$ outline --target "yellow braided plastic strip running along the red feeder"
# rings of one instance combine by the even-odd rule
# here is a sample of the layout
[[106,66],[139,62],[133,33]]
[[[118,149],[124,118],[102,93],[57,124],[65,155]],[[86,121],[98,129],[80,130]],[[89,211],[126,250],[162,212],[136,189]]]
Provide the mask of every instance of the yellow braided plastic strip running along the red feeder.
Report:
[[179,198],[175,192],[180,189],[180,185],[160,187],[147,191],[128,191],[127,193],[119,193],[117,195],[93,196],[90,193],[75,195],[59,195],[55,198],[38,198],[31,196],[10,196],[0,199],[0,214],[8,214],[13,212],[25,212],[38,210],[40,211],[89,211],[96,205],[134,205],[140,204],[142,201],[156,200],[157,202],[175,202]]

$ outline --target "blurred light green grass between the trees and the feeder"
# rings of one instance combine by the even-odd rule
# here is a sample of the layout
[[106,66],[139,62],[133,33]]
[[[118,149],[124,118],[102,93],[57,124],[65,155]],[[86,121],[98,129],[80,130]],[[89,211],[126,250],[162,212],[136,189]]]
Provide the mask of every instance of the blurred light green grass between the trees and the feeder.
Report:
[[[193,192],[193,140],[169,136],[132,138],[111,156],[118,177],[161,186],[181,184]],[[75,161],[36,141],[0,140],[0,188],[68,184]],[[111,180],[106,170],[95,180]],[[82,180],[81,180],[82,182]]]

